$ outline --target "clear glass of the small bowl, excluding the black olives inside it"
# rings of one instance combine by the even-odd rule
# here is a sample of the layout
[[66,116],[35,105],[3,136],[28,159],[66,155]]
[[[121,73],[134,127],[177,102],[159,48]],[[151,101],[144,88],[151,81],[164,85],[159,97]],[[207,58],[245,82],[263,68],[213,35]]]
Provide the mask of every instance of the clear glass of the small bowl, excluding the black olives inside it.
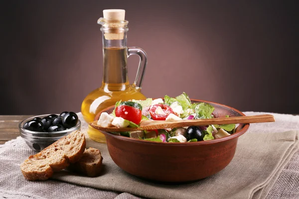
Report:
[[21,121],[18,125],[21,137],[25,140],[26,144],[33,151],[39,152],[39,151],[43,150],[44,148],[46,148],[47,146],[53,144],[55,141],[59,140],[60,138],[74,132],[75,130],[81,129],[81,121],[79,119],[78,119],[76,126],[66,129],[66,130],[63,130],[63,131],[57,131],[57,132],[36,132],[36,131],[30,131],[30,130],[23,128],[23,125],[27,121],[32,120],[34,117],[43,118],[48,115],[49,114],[36,115],[33,117],[29,117],[29,118]]

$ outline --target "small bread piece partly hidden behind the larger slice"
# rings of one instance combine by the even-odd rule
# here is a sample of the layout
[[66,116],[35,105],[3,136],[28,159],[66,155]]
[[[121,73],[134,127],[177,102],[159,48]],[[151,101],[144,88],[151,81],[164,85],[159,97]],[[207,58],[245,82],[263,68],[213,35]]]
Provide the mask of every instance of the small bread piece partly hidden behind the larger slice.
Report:
[[69,170],[88,177],[99,176],[102,170],[103,157],[98,149],[90,147],[83,153],[82,158],[69,166]]

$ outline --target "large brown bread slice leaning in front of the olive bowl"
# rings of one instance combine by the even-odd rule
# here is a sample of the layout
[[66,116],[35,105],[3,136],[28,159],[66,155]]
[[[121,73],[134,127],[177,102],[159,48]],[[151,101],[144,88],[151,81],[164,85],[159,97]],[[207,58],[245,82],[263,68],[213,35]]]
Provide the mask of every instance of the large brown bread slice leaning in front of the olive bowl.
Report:
[[67,168],[83,155],[86,142],[84,134],[76,130],[57,140],[44,150],[29,156],[20,168],[26,180],[47,180],[54,171]]

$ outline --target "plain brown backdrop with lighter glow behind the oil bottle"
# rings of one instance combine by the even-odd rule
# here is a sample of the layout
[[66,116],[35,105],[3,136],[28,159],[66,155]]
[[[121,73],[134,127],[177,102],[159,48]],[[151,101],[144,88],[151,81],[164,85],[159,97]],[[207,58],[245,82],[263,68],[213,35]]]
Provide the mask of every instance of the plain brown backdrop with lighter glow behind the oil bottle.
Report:
[[[147,97],[299,113],[291,1],[1,1],[0,114],[80,111],[102,80],[102,10],[126,9],[128,46],[148,53]],[[138,57],[129,58],[133,82]]]

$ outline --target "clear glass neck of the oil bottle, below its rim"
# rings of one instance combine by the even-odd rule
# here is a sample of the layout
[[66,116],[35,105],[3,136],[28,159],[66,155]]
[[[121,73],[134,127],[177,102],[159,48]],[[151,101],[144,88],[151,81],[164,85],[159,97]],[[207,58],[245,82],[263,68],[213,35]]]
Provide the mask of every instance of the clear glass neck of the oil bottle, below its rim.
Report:
[[103,83],[107,91],[124,91],[129,88],[127,69],[127,33],[103,31]]

